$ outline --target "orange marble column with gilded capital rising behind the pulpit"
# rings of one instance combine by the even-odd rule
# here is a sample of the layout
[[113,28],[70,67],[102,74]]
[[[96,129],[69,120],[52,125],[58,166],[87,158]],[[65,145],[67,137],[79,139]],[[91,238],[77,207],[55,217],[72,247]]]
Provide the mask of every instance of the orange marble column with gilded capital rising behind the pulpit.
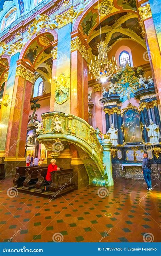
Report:
[[88,44],[79,30],[71,33],[71,105],[70,113],[88,122]]

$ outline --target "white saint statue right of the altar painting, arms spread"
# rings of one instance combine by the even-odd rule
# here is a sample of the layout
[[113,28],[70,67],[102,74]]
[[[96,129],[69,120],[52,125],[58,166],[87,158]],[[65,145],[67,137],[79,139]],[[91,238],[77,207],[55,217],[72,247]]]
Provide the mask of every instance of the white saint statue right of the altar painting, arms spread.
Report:
[[148,132],[148,137],[150,139],[150,143],[159,143],[159,138],[160,138],[160,130],[159,126],[154,124],[153,120],[149,119],[150,125],[146,126],[145,128]]

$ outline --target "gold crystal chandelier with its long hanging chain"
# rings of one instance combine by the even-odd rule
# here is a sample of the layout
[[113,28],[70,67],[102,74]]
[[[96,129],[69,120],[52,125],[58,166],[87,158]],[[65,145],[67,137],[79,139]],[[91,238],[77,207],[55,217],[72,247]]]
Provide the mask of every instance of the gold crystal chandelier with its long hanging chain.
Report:
[[[99,0],[98,0],[99,3]],[[99,8],[99,21],[100,21],[100,8]],[[101,35],[101,23],[100,23],[100,35]],[[97,80],[101,82],[106,82],[106,80],[112,76],[113,72],[117,70],[117,61],[115,57],[112,56],[112,60],[108,60],[107,52],[105,48],[105,43],[101,42],[97,44],[99,51],[98,57],[95,56],[95,61],[92,63],[92,60],[89,63],[89,74],[92,73]],[[91,79],[93,78],[91,74]]]

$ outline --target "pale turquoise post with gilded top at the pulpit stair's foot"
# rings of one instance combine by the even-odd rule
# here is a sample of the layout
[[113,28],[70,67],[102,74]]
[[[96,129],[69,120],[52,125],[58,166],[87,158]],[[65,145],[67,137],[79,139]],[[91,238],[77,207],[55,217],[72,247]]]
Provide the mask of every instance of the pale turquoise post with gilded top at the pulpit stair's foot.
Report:
[[111,146],[112,143],[109,142],[109,139],[104,139],[101,142],[103,146],[103,163],[106,165],[106,173],[108,175],[108,186],[113,186],[113,178],[112,178],[112,161],[111,161]]

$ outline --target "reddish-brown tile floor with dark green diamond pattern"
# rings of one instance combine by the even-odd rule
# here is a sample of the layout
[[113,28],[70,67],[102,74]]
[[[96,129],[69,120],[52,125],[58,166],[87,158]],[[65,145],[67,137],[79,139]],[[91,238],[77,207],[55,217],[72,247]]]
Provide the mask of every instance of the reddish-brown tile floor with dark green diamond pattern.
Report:
[[50,202],[22,193],[12,197],[12,180],[0,181],[0,242],[143,242],[146,233],[161,242],[155,182],[147,192],[144,181],[119,178],[108,191],[88,186]]

